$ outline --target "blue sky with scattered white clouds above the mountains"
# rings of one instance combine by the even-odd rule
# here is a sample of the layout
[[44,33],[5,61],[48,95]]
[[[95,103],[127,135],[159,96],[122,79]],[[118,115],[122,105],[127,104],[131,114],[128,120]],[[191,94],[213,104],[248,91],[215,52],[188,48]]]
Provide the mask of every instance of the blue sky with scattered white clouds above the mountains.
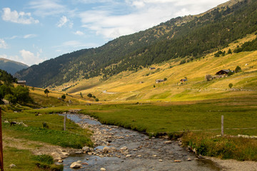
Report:
[[39,64],[227,0],[1,0],[0,58]]

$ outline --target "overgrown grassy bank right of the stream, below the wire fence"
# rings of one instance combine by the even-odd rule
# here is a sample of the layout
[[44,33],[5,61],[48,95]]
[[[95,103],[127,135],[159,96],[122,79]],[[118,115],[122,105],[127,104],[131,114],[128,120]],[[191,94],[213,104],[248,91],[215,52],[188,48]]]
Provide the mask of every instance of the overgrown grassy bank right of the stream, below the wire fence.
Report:
[[207,133],[187,133],[182,138],[184,145],[190,145],[200,155],[221,159],[257,161],[256,140],[248,138],[215,137]]

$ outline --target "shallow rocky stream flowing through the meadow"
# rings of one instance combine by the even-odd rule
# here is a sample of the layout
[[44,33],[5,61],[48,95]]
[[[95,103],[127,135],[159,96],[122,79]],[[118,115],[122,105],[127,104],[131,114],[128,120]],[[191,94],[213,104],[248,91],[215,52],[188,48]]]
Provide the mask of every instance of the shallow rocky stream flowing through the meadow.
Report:
[[[63,162],[64,170],[220,170],[211,160],[198,158],[181,147],[181,142],[147,135],[114,125],[102,125],[88,115],[68,118],[94,131],[94,149],[84,148]],[[80,153],[80,154],[79,154]]]

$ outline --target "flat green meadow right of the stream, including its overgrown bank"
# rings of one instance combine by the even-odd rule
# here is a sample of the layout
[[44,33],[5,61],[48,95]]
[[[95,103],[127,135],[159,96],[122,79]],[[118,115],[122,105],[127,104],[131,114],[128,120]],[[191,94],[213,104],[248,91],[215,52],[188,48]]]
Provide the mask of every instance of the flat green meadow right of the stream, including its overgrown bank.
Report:
[[257,135],[256,96],[184,103],[91,105],[82,113],[101,123],[119,125],[148,134],[183,133],[184,145],[198,154],[257,161],[257,140],[216,138],[224,115],[226,135]]

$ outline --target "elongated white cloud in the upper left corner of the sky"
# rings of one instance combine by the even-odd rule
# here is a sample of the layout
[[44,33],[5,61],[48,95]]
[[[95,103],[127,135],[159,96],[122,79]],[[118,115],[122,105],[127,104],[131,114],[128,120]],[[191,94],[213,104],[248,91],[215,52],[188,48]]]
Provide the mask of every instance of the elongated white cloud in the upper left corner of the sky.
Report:
[[11,21],[13,23],[17,24],[37,24],[39,23],[39,20],[34,19],[31,17],[30,13],[25,13],[23,11],[17,12],[17,11],[11,11],[9,8],[3,9],[4,14],[2,15],[2,19],[4,21]]

